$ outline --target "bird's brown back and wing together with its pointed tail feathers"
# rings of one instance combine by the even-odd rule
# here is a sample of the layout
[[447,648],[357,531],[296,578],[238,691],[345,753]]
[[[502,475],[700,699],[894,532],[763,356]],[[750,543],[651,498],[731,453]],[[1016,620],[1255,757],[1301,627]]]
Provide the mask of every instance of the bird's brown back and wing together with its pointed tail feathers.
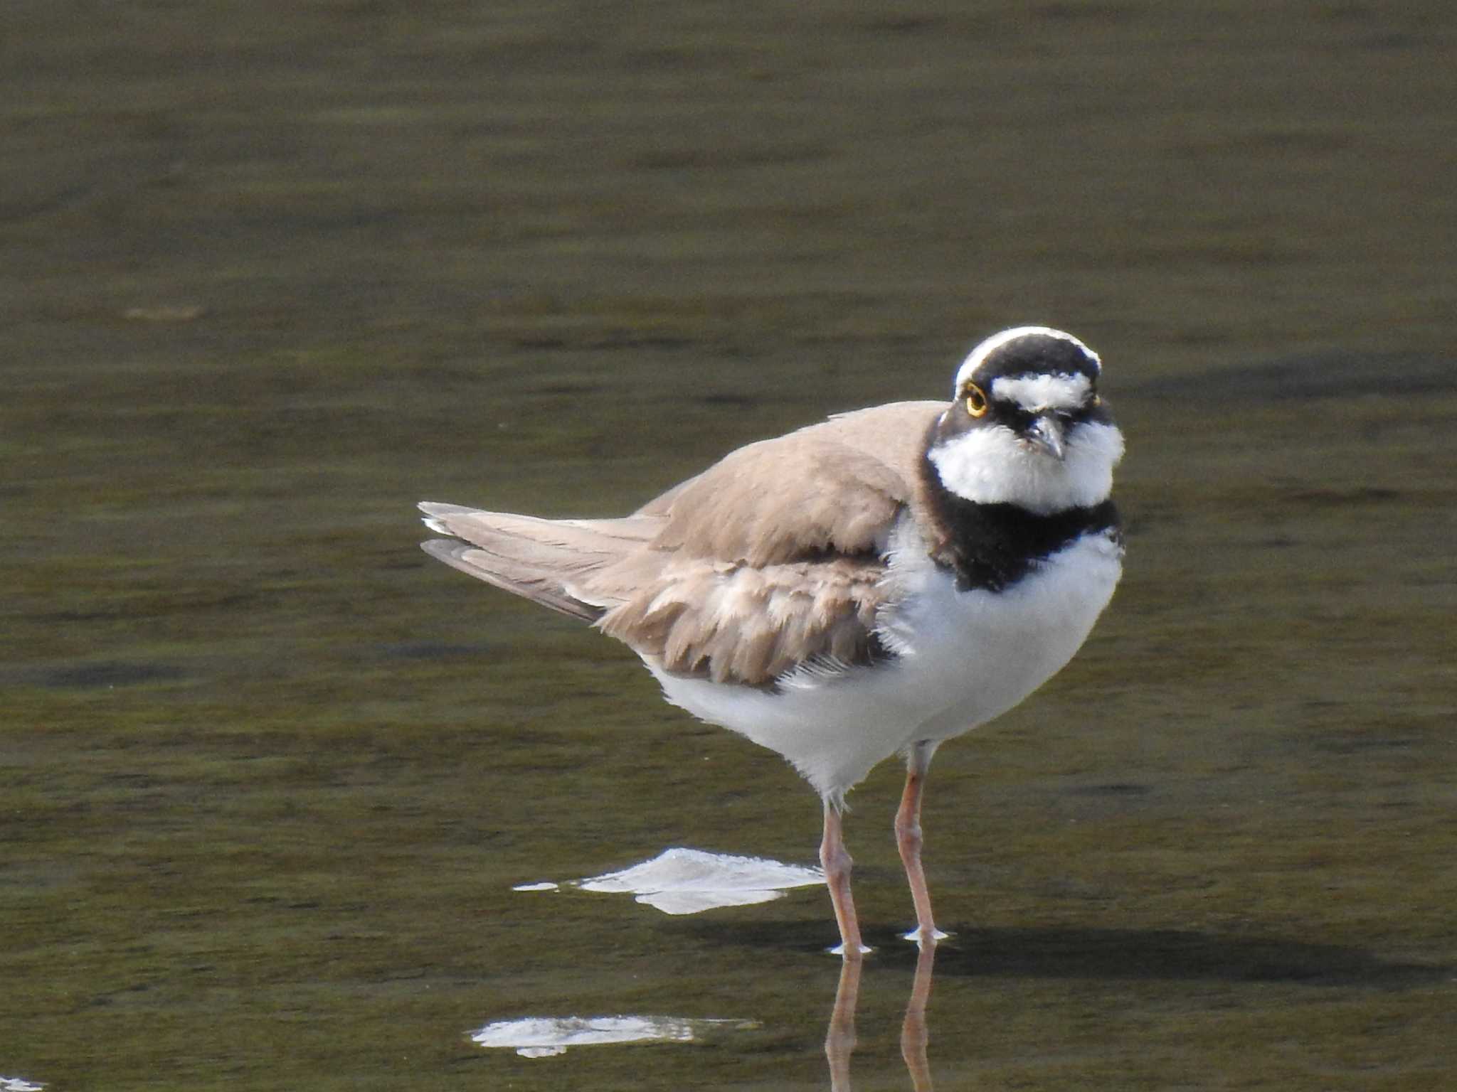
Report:
[[471,545],[425,549],[490,584],[596,620],[664,670],[768,686],[873,660],[881,553],[944,403],[845,414],[749,444],[624,520],[421,505]]

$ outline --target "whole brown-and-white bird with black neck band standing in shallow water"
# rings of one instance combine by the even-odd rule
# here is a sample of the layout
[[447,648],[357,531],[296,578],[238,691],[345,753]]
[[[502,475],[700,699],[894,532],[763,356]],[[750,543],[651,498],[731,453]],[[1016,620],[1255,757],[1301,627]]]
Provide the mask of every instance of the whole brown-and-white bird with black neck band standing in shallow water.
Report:
[[820,865],[863,943],[845,794],[900,756],[895,836],[934,945],[921,802],[937,748],[1078,651],[1122,575],[1123,435],[1101,360],[1049,326],[981,341],[950,402],[893,402],[740,447],[618,518],[423,502],[431,556],[589,622],[663,696],[785,757],[819,794]]

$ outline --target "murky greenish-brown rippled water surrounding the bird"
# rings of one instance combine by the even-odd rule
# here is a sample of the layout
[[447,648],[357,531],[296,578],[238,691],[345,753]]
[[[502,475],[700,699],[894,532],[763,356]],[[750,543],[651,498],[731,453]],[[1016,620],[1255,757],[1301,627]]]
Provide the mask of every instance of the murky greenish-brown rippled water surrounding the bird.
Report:
[[[16,3],[0,64],[0,1076],[48,1089],[828,1088],[817,801],[622,648],[415,549],[612,514],[1106,361],[1128,575],[932,770],[941,1088],[1457,1070],[1457,143],[1445,4]],[[852,796],[858,1089],[911,1088]],[[733,1019],[487,1053],[523,1016]]]

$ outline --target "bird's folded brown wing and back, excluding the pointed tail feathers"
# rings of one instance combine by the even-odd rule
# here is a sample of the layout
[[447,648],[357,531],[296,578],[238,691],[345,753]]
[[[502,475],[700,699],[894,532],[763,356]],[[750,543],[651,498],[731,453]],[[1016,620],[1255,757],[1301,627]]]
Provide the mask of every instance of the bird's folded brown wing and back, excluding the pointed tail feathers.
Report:
[[918,460],[944,409],[903,402],[743,447],[640,508],[651,546],[583,581],[597,626],[663,668],[766,686],[881,654],[883,550],[919,508]]

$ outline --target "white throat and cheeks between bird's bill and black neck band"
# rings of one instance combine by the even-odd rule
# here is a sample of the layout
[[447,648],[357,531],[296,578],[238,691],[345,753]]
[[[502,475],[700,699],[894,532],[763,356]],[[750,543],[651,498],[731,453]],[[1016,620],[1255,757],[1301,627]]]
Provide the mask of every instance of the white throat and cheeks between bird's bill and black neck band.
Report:
[[973,428],[930,451],[950,492],[976,504],[1016,504],[1050,515],[1101,504],[1113,491],[1113,467],[1123,457],[1115,425],[1083,422],[1067,434],[1067,456],[1050,457],[1010,428]]

